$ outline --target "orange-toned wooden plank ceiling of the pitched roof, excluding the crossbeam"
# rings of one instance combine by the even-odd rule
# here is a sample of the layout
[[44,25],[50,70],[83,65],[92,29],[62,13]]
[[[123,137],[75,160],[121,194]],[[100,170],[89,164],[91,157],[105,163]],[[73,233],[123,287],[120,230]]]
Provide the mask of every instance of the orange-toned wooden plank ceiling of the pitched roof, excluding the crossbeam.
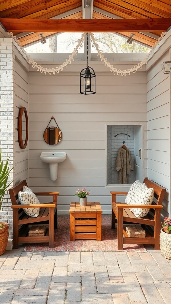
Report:
[[[7,18],[14,19],[14,22],[16,19],[26,19],[28,22],[29,19],[39,19],[43,25],[41,30],[30,31],[27,26],[25,30],[21,27],[16,31],[12,30],[12,33],[17,36],[19,41],[22,40],[23,45],[28,45],[39,40],[39,33],[43,33],[44,37],[50,37],[62,32],[61,28],[47,31],[44,28],[44,19],[115,19],[116,21],[118,19],[126,19],[128,23],[132,19],[134,19],[134,22],[136,22],[136,19],[144,19],[142,22],[145,23],[147,18],[153,20],[160,18],[163,23],[166,18],[171,18],[171,5],[170,0],[0,0],[0,17],[6,19],[6,21],[8,21]],[[7,29],[6,26],[5,28]],[[130,30],[130,28],[131,26],[125,30],[120,28],[117,31],[115,29],[114,32],[124,37],[135,33],[134,40],[150,47],[155,44],[162,31],[167,29],[164,25],[164,28],[160,27],[158,30],[152,30],[153,27],[149,26],[149,24],[146,31],[145,26],[142,31],[138,32],[132,28]],[[8,30],[10,30],[9,27]],[[67,32],[67,26],[63,30]],[[92,28],[89,30],[87,27],[85,29],[76,26],[74,31],[92,31]],[[100,31],[100,28],[98,28],[98,31]],[[103,31],[109,32],[113,31],[113,29],[108,28],[108,26],[106,28],[104,23]]]

